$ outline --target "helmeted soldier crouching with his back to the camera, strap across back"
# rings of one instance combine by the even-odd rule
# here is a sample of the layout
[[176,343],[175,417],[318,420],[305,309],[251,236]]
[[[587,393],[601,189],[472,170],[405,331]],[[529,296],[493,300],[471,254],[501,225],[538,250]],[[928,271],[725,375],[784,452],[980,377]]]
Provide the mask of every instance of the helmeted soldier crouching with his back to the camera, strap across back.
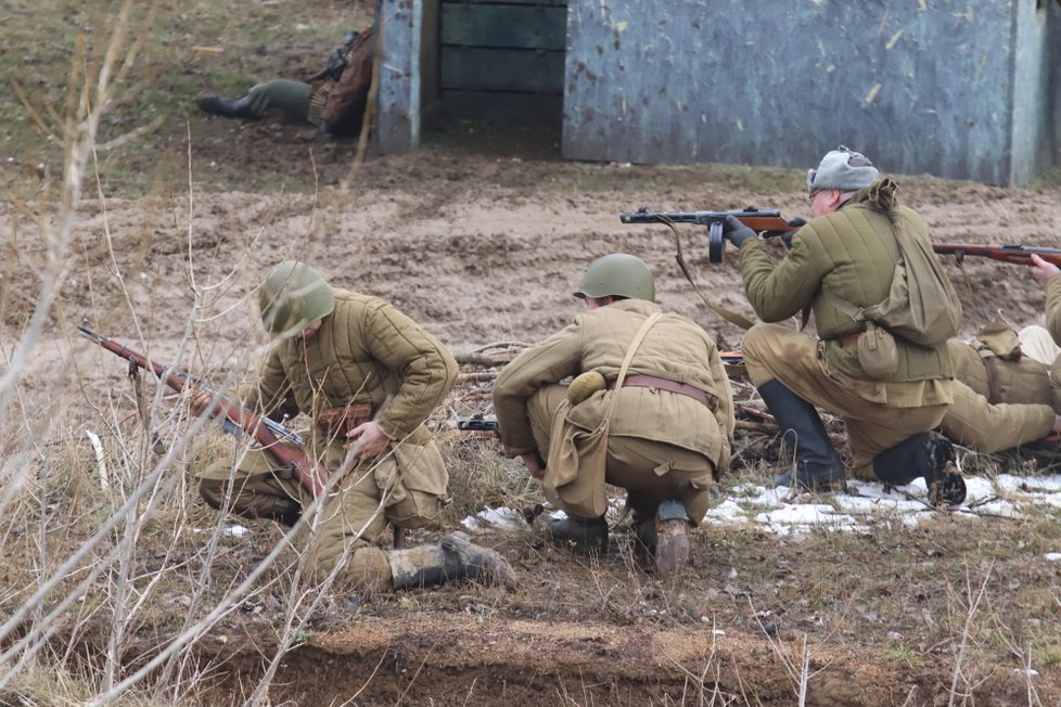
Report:
[[574,294],[587,311],[498,376],[501,442],[566,512],[546,520],[551,540],[606,548],[606,481],[627,490],[655,568],[674,570],[729,466],[733,402],[718,349],[694,322],[661,311],[635,256],[596,260]]

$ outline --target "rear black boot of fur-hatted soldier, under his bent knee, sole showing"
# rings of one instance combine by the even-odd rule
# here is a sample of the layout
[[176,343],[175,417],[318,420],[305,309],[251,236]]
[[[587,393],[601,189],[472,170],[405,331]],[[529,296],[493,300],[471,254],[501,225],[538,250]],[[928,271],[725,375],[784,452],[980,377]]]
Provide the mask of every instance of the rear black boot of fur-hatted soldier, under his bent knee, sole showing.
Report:
[[929,488],[929,503],[958,505],[966,500],[966,480],[955,460],[949,439],[923,432],[878,454],[873,473],[885,486],[906,486],[921,476]]

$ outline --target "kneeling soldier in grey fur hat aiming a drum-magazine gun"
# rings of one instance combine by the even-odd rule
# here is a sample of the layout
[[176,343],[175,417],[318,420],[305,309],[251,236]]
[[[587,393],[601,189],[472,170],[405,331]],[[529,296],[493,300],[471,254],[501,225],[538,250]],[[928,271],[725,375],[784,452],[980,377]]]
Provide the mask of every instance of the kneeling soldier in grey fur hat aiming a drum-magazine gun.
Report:
[[934,256],[921,259],[938,287],[925,299],[938,300],[936,313],[955,329],[939,332],[939,343],[931,346],[892,337],[886,322],[864,316],[893,299],[896,269],[911,259],[904,243],[932,255],[924,222],[898,205],[895,191],[895,182],[881,178],[865,155],[841,145],[808,170],[814,218],[779,263],[751,229],[736,218],[727,221],[724,235],[740,249],[745,292],[759,318],[780,322],[813,311],[818,331],[815,337],[778,324],[755,325],[744,337],[744,362],[795,447],[795,464],[777,484],[843,484],[846,471],[821,423],[821,408],[845,421],[856,476],[891,485],[923,477],[933,502],[960,503],[964,483],[949,465],[951,445],[931,432],[954,399],[945,340],[960,319],[954,288]]

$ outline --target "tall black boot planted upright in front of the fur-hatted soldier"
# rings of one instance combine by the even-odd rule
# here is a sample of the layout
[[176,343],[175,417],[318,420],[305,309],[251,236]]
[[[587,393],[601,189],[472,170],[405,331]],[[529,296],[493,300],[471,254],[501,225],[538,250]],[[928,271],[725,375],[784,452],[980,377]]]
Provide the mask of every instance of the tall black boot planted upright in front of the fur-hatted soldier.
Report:
[[780,381],[768,381],[758,391],[781,428],[785,444],[795,448],[795,468],[775,477],[774,483],[816,491],[843,487],[844,462],[829,441],[815,407]]

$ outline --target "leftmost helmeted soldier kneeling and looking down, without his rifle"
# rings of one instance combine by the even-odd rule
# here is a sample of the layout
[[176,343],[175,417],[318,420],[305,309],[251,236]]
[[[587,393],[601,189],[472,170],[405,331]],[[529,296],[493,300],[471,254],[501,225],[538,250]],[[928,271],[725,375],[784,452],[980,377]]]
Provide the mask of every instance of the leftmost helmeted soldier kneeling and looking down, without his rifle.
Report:
[[[303,535],[311,570],[342,563],[341,586],[401,589],[471,578],[511,583],[493,550],[459,534],[438,545],[384,551],[388,524],[437,525],[448,475],[423,422],[457,378],[457,363],[433,336],[375,297],[332,288],[311,267],[289,260],[259,291],[273,346],[243,403],[279,419],[304,413],[316,425],[306,453],[334,477],[337,493]],[[203,414],[209,395],[192,399]],[[200,492],[212,506],[293,525],[314,499],[267,451],[216,460]],[[344,562],[344,557],[346,557]]]

